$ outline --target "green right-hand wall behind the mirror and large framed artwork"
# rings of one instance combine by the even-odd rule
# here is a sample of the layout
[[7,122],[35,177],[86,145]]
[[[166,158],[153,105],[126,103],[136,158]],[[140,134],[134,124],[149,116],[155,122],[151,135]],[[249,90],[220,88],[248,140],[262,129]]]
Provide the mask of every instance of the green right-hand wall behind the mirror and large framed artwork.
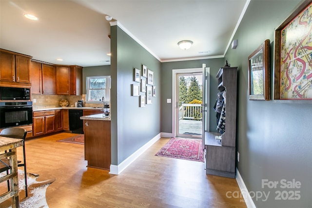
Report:
[[[238,170],[257,208],[312,207],[312,103],[277,103],[248,99],[248,56],[266,39],[271,41],[271,93],[273,89],[274,28],[294,10],[298,0],[252,0],[226,59],[238,66],[237,147]],[[272,94],[271,94],[272,95]],[[280,181],[299,181],[300,188],[281,188]],[[262,180],[277,181],[276,188],[262,187]],[[245,190],[246,191],[246,190]],[[300,191],[299,200],[275,200],[278,192]],[[265,201],[264,201],[265,200]]]

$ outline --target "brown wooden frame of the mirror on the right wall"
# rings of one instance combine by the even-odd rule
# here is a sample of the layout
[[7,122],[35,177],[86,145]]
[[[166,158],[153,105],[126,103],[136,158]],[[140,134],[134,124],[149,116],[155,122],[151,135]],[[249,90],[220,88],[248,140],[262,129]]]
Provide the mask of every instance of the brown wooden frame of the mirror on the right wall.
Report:
[[[252,61],[259,52],[262,51],[262,74],[263,74],[263,94],[252,94]],[[270,100],[270,40],[265,40],[249,57],[248,57],[248,91],[249,100]]]

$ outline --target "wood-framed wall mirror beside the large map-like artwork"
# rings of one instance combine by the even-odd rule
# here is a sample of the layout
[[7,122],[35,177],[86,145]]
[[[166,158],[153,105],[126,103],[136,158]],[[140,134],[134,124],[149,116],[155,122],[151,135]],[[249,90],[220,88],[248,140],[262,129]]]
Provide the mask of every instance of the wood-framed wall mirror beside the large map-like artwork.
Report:
[[249,57],[249,100],[270,100],[270,40],[265,40]]

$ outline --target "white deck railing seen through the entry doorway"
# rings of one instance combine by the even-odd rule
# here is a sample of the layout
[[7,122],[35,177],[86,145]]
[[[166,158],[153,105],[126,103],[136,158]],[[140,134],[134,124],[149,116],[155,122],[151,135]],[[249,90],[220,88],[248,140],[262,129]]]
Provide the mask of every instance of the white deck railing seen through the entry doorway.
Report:
[[179,107],[179,120],[201,120],[202,106],[201,104],[182,104]]

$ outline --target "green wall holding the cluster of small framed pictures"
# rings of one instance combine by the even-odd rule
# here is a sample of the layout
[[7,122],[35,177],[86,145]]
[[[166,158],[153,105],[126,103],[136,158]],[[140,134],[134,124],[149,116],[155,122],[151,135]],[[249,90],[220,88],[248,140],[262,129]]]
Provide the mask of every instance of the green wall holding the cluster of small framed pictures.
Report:
[[134,68],[141,70],[142,64],[154,71],[160,92],[160,62],[118,26],[111,26],[111,52],[112,165],[119,165],[160,133],[160,93],[146,107],[131,96],[131,84],[139,84]]

